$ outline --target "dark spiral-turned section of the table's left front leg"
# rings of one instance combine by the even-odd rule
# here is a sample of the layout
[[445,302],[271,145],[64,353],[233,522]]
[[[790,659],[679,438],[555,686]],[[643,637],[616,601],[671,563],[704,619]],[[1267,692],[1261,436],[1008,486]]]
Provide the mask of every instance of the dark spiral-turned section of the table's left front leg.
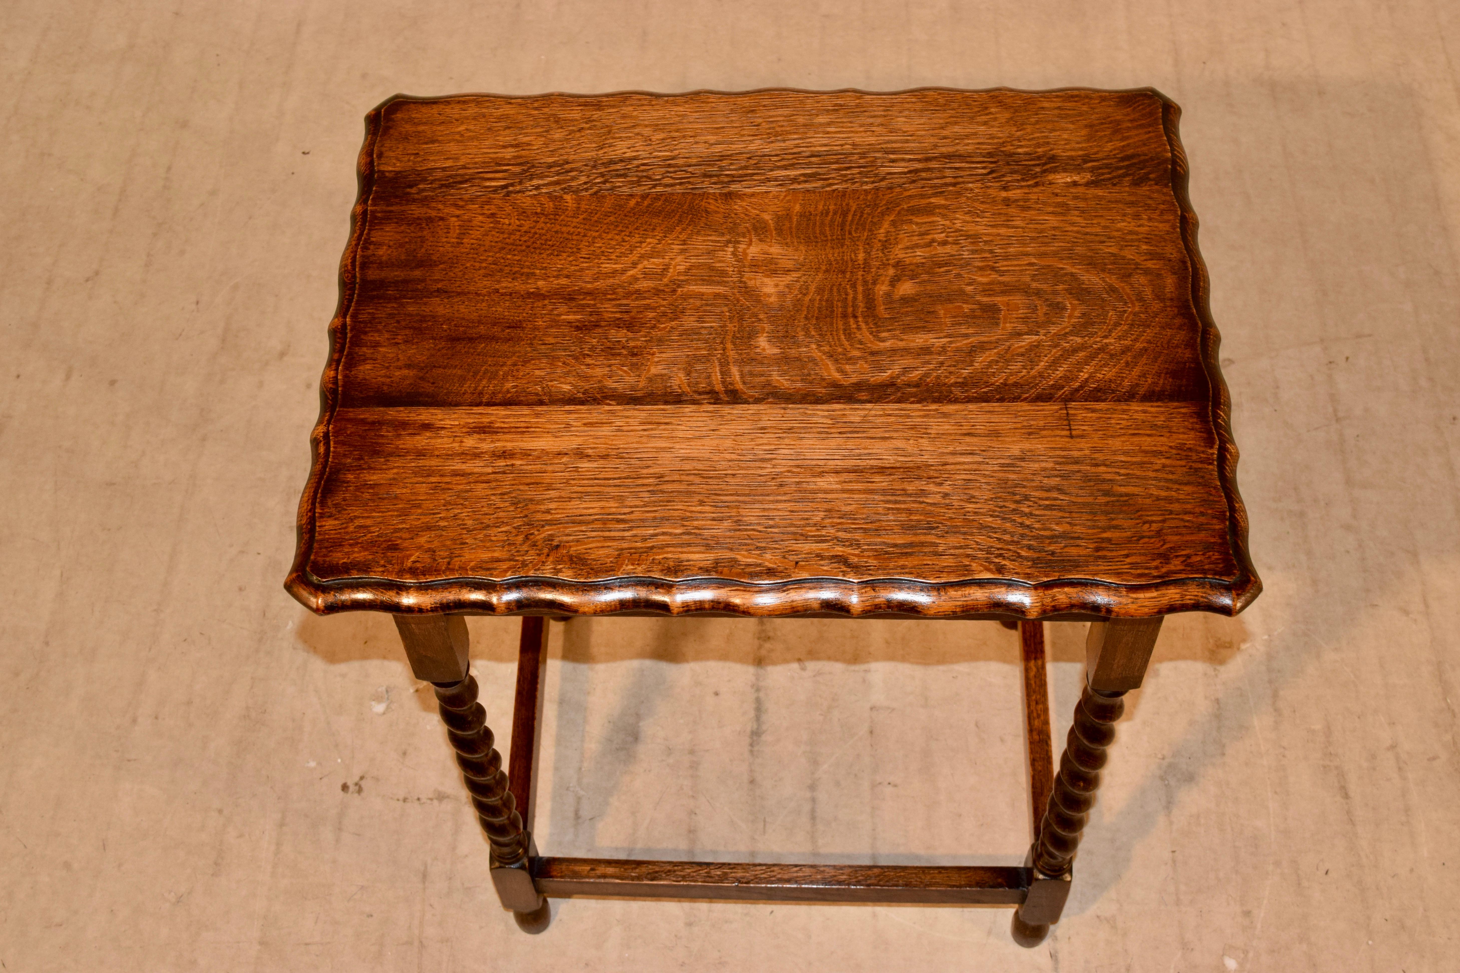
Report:
[[492,845],[492,867],[518,865],[527,858],[527,834],[502,773],[502,754],[486,725],[486,710],[476,702],[476,678],[469,674],[460,683],[437,684],[437,703],[472,807]]

